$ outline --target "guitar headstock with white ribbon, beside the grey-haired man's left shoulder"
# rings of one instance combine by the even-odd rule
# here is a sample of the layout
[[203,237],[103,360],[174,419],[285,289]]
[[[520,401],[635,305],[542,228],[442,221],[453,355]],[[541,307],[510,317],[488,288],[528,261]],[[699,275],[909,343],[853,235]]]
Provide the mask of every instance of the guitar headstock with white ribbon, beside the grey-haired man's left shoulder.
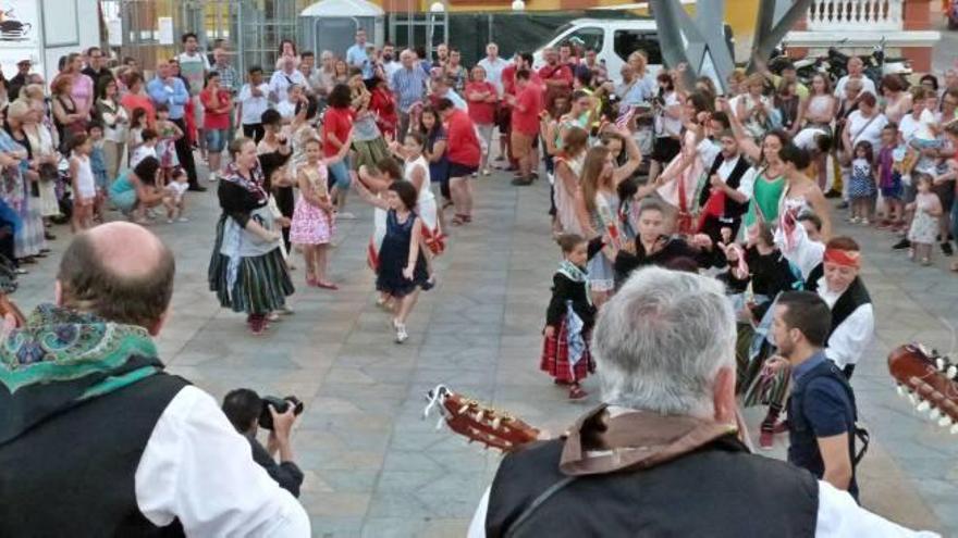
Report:
[[429,405],[423,417],[438,408],[450,429],[465,436],[469,442],[479,441],[487,448],[511,452],[539,436],[538,429],[521,420],[453,392],[444,385],[427,392],[426,398]]

